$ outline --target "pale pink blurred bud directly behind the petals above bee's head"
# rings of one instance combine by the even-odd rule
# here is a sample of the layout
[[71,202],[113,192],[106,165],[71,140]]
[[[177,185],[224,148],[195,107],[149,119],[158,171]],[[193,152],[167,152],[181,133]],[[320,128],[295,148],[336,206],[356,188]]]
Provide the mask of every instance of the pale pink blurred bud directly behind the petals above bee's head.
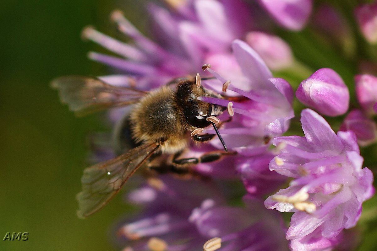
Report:
[[261,56],[271,70],[281,70],[292,64],[291,48],[277,36],[252,31],[246,35],[246,42]]

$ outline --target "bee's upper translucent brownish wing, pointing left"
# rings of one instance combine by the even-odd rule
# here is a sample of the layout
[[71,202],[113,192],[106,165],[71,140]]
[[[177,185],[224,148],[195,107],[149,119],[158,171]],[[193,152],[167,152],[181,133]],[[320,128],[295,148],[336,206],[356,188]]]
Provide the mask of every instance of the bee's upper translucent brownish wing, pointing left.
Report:
[[77,116],[130,105],[146,94],[145,91],[109,85],[86,76],[56,78],[51,82],[51,87],[59,91],[61,102],[67,103]]

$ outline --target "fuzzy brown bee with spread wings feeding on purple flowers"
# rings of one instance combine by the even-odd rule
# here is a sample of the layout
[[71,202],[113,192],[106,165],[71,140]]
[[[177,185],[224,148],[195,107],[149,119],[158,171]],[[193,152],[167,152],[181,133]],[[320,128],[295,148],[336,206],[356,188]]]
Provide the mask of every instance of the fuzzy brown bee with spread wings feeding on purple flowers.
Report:
[[[77,200],[80,218],[97,212],[121,189],[130,176],[152,156],[173,155],[174,166],[192,166],[210,162],[227,154],[228,149],[216,123],[224,106],[198,100],[198,97],[222,98],[201,85],[196,78],[176,79],[152,91],[106,84],[97,78],[65,76],[52,81],[59,91],[61,102],[67,103],[78,116],[112,107],[133,105],[117,127],[118,157],[95,164],[84,170],[82,191]],[[196,142],[211,140],[216,134],[202,134],[212,125],[224,146],[224,151],[203,155],[201,158],[183,158],[179,155],[187,148],[189,136]],[[191,132],[191,133],[190,133]],[[126,151],[126,141],[135,148]],[[124,152],[125,151],[125,152]]]

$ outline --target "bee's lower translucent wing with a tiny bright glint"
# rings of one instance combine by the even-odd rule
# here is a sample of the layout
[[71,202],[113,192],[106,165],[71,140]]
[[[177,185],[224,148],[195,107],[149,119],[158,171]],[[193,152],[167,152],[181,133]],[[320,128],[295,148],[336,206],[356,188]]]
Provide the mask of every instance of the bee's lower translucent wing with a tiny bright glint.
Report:
[[79,218],[97,212],[121,189],[130,176],[149,158],[159,145],[141,145],[111,160],[84,170],[83,190],[77,194]]

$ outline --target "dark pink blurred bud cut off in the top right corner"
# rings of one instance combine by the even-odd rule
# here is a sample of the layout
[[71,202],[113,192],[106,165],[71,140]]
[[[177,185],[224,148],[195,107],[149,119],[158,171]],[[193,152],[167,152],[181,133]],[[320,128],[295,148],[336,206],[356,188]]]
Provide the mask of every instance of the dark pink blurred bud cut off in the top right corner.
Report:
[[357,7],[355,15],[366,40],[369,43],[377,43],[377,3]]

